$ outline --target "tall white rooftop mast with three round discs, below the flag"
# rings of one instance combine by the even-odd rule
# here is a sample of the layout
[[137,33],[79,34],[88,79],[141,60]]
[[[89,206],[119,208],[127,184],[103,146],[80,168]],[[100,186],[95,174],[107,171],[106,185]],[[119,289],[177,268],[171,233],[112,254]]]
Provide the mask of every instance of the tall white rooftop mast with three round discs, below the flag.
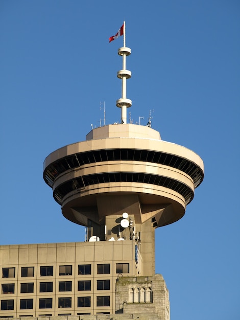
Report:
[[118,55],[123,57],[123,70],[117,72],[117,78],[122,79],[122,98],[116,101],[116,106],[122,109],[121,123],[127,123],[127,108],[131,107],[132,100],[127,99],[127,79],[131,78],[132,73],[126,70],[126,56],[131,54],[131,49],[126,47],[125,21],[123,24],[124,46],[118,49]]

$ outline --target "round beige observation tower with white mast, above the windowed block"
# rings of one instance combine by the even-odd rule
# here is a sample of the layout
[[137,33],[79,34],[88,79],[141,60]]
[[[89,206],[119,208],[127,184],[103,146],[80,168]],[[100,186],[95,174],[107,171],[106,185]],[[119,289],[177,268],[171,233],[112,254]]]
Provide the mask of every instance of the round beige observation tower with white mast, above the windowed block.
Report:
[[[125,28],[125,24],[124,24]],[[140,275],[155,273],[155,229],[183,217],[204,177],[202,159],[166,141],[150,126],[127,123],[126,58],[123,68],[121,123],[92,129],[86,141],[62,147],[44,161],[43,178],[68,220],[86,227],[86,241],[131,240],[138,245]]]

